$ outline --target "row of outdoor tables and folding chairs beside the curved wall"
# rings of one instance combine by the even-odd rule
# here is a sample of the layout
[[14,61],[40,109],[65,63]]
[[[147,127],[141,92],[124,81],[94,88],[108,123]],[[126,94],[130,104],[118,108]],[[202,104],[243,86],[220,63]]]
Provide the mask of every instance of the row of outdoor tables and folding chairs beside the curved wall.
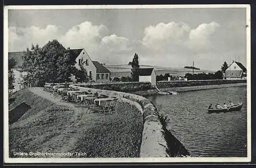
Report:
[[44,90],[57,92],[61,95],[61,102],[72,102],[75,107],[86,107],[86,113],[103,112],[113,114],[116,112],[118,99],[107,95],[82,91],[78,88],[69,87],[63,84],[45,85]]

